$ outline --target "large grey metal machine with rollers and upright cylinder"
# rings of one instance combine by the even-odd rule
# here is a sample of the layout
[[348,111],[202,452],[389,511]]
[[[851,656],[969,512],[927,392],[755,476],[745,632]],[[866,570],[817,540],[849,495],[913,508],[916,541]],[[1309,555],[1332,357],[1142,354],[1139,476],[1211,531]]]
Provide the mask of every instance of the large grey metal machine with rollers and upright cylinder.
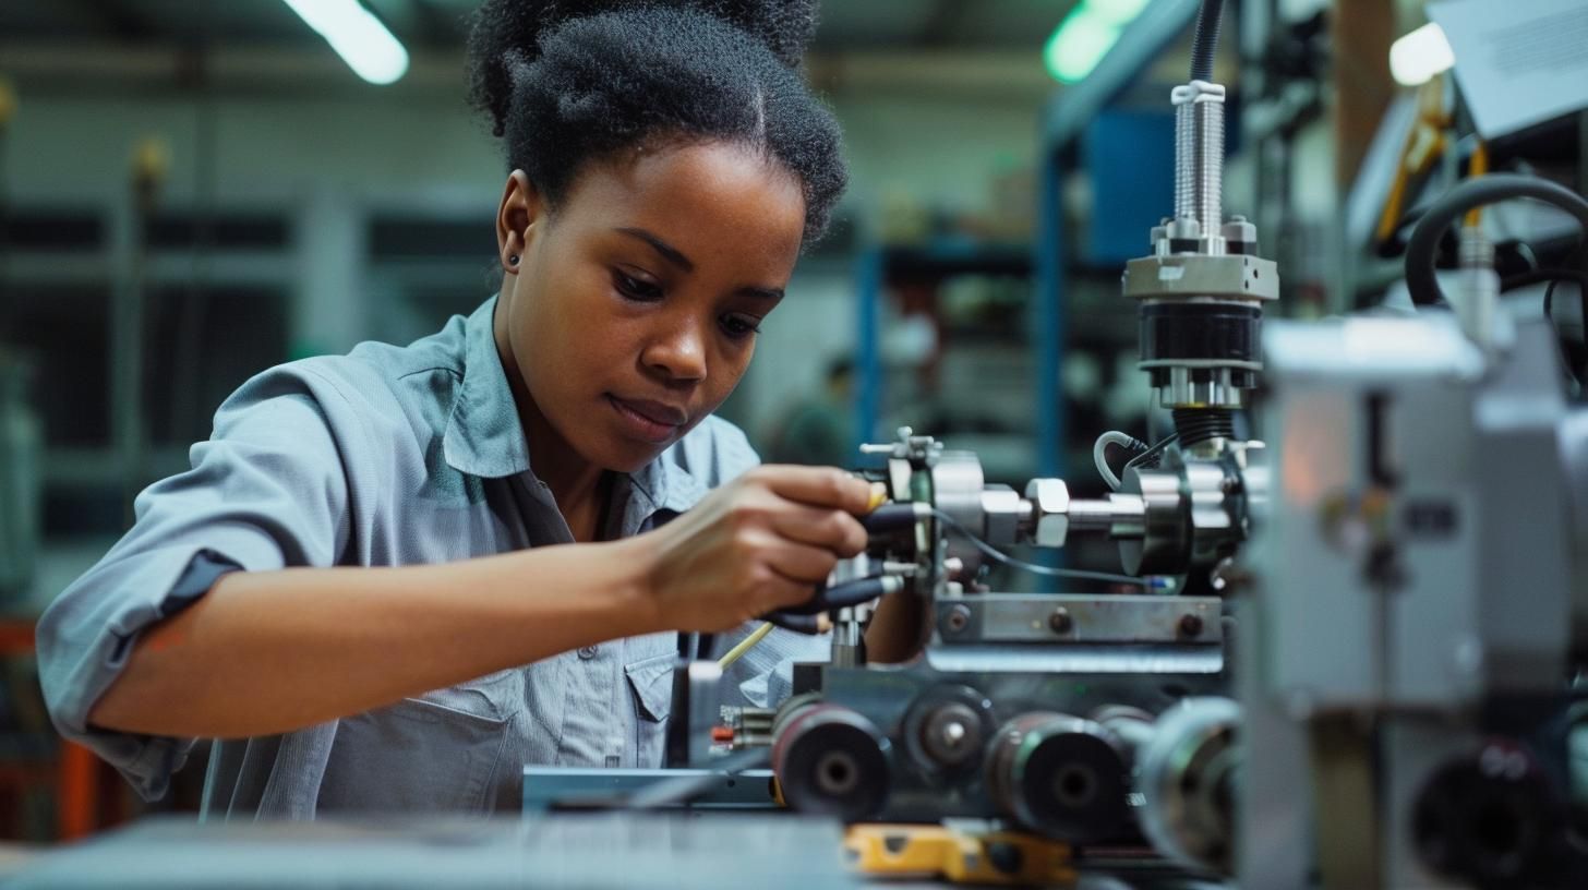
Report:
[[[832,610],[832,663],[727,712],[732,747],[770,745],[799,811],[1145,842],[1243,887],[1585,885],[1588,408],[1551,327],[1502,312],[1475,230],[1455,313],[1264,327],[1278,272],[1220,208],[1223,87],[1172,100],[1175,216],[1124,296],[1175,432],[1105,434],[1105,499],[985,485],[910,431],[869,447],[891,502],[834,582],[896,578],[919,655],[867,664],[872,607]],[[1147,593],[978,580],[1002,545],[1072,536],[1116,540],[1129,577],[1105,580]]]

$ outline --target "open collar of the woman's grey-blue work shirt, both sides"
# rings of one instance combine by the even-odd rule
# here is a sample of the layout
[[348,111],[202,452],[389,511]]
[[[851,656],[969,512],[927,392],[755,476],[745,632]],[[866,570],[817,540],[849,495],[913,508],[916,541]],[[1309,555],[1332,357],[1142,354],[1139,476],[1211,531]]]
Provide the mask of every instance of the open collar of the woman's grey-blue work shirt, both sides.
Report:
[[[483,478],[530,470],[529,440],[495,346],[495,307],[497,297],[491,297],[464,321],[464,380],[441,442],[448,466]],[[670,453],[672,448],[627,477],[651,512],[683,513],[707,493]]]

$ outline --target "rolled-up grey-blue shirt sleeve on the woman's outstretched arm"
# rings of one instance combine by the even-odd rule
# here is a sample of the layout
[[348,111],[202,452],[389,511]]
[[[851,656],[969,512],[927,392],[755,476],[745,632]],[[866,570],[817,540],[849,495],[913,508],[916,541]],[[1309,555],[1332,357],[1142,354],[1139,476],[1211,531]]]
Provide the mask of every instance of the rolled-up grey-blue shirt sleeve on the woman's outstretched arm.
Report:
[[91,726],[91,709],[138,634],[225,571],[337,563],[351,526],[333,415],[348,412],[308,369],[284,366],[246,383],[221,405],[211,439],[192,447],[192,469],[138,494],[132,529],[40,618],[40,683],[56,728],[145,798],[165,793],[194,741]]

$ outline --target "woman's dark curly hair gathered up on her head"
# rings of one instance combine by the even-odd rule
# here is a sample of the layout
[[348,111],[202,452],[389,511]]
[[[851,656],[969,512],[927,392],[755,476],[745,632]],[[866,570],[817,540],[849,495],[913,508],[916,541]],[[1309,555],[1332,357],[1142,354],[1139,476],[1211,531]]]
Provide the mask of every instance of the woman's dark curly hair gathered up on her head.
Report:
[[848,173],[838,124],[807,89],[815,0],[486,0],[470,102],[553,207],[584,164],[656,140],[727,140],[802,184],[805,243]]

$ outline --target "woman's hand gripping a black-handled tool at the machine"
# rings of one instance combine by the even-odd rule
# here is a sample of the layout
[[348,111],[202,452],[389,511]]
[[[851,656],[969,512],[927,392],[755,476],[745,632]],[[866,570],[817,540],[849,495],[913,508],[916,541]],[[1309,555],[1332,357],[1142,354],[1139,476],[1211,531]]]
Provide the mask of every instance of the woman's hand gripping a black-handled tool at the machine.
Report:
[[865,548],[872,485],[834,467],[764,466],[630,539],[656,626],[719,633],[810,599]]

